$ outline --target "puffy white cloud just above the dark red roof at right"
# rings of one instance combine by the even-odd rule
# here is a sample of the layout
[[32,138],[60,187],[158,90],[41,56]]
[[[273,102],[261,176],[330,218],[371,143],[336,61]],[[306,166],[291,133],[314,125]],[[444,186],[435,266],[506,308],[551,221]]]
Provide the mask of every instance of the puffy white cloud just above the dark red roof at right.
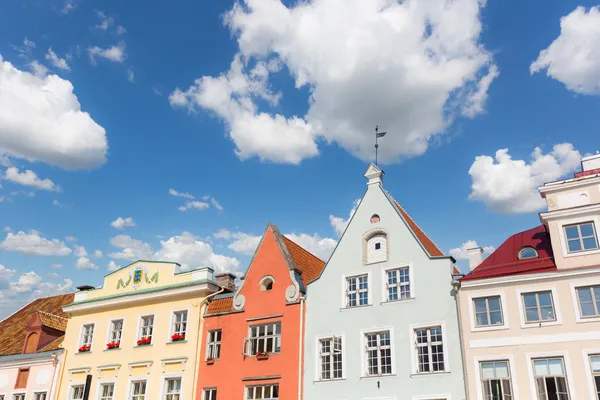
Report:
[[469,198],[483,201],[491,210],[525,213],[545,207],[537,188],[575,171],[581,154],[570,143],[554,146],[548,154],[539,147],[531,161],[513,160],[508,149],[500,149],[495,158],[478,156],[469,169],[472,185]]

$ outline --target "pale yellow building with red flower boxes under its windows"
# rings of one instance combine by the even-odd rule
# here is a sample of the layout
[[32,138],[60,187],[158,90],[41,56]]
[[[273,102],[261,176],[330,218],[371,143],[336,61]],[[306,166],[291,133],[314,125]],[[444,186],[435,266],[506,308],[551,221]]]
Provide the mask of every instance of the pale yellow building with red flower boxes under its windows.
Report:
[[80,289],[63,308],[70,320],[57,399],[193,398],[201,310],[219,290],[212,269],[137,261],[101,288]]

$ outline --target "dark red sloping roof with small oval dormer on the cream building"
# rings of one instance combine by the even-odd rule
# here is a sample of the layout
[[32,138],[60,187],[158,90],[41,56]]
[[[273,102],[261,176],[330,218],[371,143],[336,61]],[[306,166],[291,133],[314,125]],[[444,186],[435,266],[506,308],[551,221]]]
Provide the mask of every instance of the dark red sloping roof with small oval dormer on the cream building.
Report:
[[[537,250],[538,257],[520,260],[519,251],[523,247],[533,247]],[[554,263],[550,235],[544,225],[540,225],[509,237],[496,251],[461,280],[496,278],[553,270],[556,270],[556,264]]]

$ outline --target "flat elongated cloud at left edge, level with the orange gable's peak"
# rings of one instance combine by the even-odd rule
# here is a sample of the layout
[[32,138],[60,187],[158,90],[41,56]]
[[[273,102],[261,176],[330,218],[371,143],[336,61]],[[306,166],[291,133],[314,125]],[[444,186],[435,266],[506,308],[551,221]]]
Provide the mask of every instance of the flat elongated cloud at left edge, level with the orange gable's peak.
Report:
[[0,249],[16,251],[35,256],[67,256],[72,250],[58,239],[46,239],[34,230],[16,234],[8,232],[4,241],[0,242]]

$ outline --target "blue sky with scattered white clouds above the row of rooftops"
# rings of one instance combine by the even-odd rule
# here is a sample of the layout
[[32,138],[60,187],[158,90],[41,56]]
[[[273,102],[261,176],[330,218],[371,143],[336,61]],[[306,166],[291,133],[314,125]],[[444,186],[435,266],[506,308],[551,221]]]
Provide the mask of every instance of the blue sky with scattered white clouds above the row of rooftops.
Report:
[[137,258],[239,273],[267,222],[327,258],[376,124],[385,188],[464,269],[600,150],[600,11],[540,5],[3,4],[0,317]]

